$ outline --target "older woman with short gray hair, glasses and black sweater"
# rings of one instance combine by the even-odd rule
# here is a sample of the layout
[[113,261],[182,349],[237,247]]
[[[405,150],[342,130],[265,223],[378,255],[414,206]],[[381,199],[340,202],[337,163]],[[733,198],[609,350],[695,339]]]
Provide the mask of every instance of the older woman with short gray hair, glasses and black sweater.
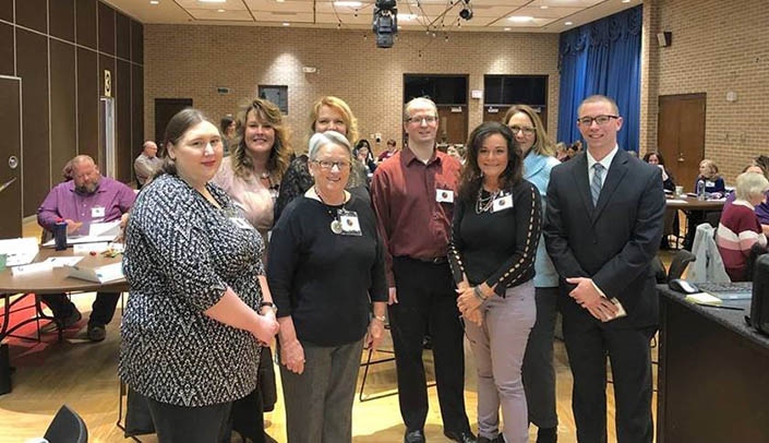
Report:
[[362,346],[375,349],[384,334],[383,244],[371,203],[345,190],[352,163],[345,135],[314,134],[314,183],[286,207],[269,243],[289,443],[352,440]]

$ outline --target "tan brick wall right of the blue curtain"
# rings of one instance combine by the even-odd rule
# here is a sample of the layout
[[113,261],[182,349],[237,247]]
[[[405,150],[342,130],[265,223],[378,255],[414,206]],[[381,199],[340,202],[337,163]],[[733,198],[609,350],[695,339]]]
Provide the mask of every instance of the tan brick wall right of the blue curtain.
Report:
[[[750,157],[769,154],[769,8],[766,0],[651,0],[644,3],[641,140],[657,143],[659,95],[707,94],[705,156],[728,182]],[[670,47],[656,34],[673,33]],[[726,92],[737,100],[726,101]],[[644,148],[642,151],[646,151]]]

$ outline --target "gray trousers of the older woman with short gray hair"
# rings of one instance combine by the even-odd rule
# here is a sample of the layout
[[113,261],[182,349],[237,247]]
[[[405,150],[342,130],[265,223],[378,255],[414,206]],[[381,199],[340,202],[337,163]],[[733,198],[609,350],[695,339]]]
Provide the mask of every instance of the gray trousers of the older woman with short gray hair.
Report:
[[302,342],[304,372],[280,366],[289,443],[352,441],[352,400],[363,340],[334,347]]

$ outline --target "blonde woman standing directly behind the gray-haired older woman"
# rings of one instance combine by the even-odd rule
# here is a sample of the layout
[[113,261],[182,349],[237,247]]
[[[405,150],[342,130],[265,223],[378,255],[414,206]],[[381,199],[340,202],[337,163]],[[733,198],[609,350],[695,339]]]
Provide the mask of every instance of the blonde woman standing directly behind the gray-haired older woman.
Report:
[[[316,132],[336,131],[347,136],[350,145],[358,141],[358,119],[352,115],[350,107],[341,98],[325,96],[315,101],[310,112],[310,136]],[[280,182],[278,199],[275,202],[275,220],[288,204],[301,196],[312,187],[313,180],[308,168],[308,156],[304,152],[297,153]],[[347,183],[347,189],[352,190],[361,197],[367,197],[369,191],[368,176],[363,165],[355,163]]]

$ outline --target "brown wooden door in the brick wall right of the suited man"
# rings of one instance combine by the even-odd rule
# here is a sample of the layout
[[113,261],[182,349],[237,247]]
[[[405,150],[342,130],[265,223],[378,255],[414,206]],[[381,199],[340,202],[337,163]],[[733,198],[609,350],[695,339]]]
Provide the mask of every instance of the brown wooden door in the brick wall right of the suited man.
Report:
[[694,192],[699,161],[705,158],[706,94],[664,95],[659,98],[657,148],[676,184]]

